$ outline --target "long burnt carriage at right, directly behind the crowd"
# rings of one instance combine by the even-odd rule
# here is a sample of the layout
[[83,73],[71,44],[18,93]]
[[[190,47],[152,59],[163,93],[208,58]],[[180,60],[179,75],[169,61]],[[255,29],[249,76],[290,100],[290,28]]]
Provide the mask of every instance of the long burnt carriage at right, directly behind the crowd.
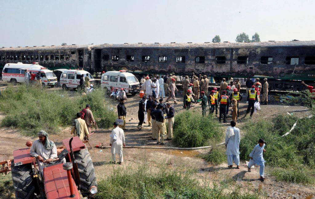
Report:
[[[273,88],[314,81],[315,41],[204,44],[104,44],[92,47],[95,71],[175,72],[221,77],[267,77]],[[273,79],[273,80],[271,80]],[[277,81],[277,79],[287,81]]]

